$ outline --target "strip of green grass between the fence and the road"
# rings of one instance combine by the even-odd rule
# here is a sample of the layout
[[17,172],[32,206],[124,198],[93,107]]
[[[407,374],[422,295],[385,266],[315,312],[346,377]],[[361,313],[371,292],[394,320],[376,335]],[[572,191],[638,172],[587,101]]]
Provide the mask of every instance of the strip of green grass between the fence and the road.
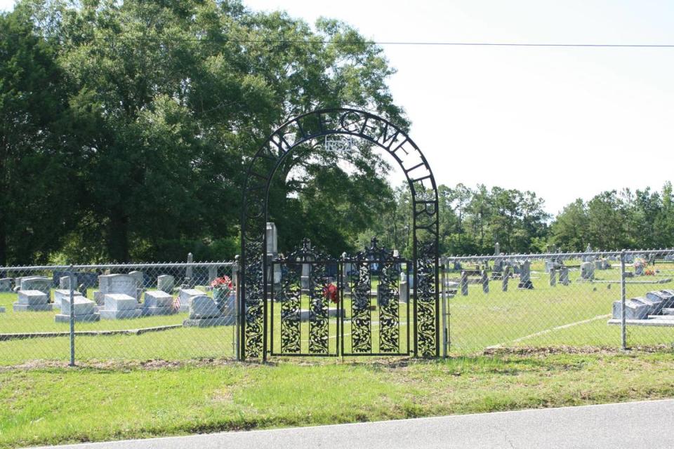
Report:
[[674,396],[672,352],[301,362],[4,368],[0,448]]

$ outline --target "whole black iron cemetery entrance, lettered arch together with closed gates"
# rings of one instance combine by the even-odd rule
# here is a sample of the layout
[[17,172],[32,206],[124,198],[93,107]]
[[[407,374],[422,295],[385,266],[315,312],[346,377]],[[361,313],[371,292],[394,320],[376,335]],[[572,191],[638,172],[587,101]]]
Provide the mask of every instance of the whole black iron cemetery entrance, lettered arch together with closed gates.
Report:
[[[357,139],[388,152],[407,177],[412,260],[381,248],[376,239],[338,260],[309,241],[286,257],[277,255],[275,227],[267,227],[277,168],[299,145],[350,152]],[[390,121],[356,109],[323,109],[280,126],[251,159],[244,182],[239,356],[438,356],[438,223],[430,166]]]

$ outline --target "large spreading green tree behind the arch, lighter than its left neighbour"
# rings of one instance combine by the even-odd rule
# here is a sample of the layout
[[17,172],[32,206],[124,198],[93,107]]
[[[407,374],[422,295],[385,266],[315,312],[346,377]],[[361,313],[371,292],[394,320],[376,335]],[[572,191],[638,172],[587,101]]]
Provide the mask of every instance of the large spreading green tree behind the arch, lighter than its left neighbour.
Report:
[[[342,22],[321,19],[314,31],[239,1],[25,3],[44,38],[60,43],[77,130],[81,219],[65,246],[71,258],[171,260],[194,248],[202,259],[232,257],[246,158],[276,126],[343,105],[406,124],[381,48]],[[273,213],[282,235],[303,231],[328,246],[332,232],[310,230],[333,224],[326,229],[344,236],[338,249],[348,248],[348,234],[377,210],[353,220],[336,199],[392,196],[379,156],[363,146],[349,163],[356,169],[346,173],[320,147],[293,154],[272,193],[289,203]],[[302,175],[286,182],[298,166]]]

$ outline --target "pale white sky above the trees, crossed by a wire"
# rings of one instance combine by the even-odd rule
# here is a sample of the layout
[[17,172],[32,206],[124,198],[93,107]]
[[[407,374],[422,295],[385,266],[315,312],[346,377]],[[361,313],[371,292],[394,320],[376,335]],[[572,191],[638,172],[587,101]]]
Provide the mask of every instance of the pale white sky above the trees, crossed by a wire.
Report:
[[[674,44],[665,0],[244,3],[338,18],[374,41]],[[532,190],[557,213],[674,178],[674,48],[384,49],[395,101],[439,183]]]

